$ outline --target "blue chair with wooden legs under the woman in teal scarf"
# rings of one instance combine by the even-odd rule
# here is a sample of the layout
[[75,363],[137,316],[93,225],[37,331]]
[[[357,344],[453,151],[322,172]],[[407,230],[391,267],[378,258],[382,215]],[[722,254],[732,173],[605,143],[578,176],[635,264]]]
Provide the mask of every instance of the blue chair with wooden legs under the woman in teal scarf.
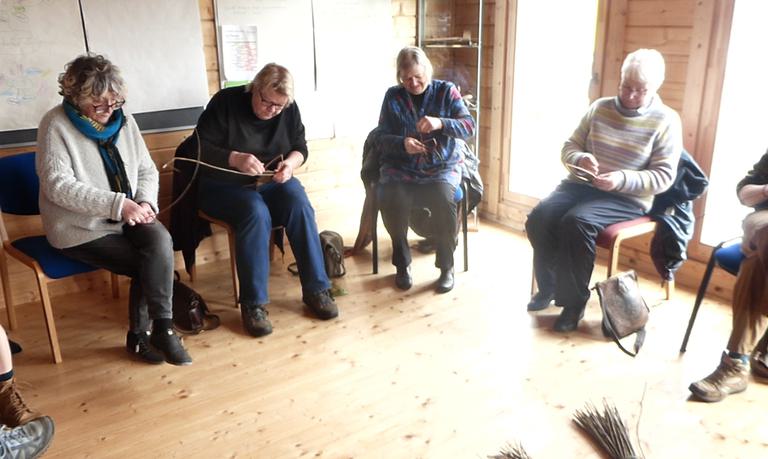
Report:
[[[98,268],[64,256],[48,243],[45,235],[25,235],[14,239],[9,237],[3,215],[39,215],[39,189],[40,182],[35,172],[34,152],[0,158],[0,236],[3,242],[2,249],[0,249],[0,274],[2,275],[8,325],[13,330],[16,328],[17,322],[6,254],[35,271],[51,353],[54,362],[60,363],[61,348],[53,320],[53,309],[51,308],[47,284],[51,280],[95,271]],[[112,274],[112,295],[115,298],[119,295],[116,274]]]

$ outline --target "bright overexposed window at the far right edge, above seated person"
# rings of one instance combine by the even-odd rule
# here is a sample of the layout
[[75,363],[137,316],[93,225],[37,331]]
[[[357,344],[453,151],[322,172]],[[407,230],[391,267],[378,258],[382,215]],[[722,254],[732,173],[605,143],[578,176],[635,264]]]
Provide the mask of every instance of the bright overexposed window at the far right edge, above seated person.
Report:
[[766,17],[768,2],[734,4],[701,234],[704,244],[741,235],[741,221],[752,210],[739,203],[736,184],[768,148]]

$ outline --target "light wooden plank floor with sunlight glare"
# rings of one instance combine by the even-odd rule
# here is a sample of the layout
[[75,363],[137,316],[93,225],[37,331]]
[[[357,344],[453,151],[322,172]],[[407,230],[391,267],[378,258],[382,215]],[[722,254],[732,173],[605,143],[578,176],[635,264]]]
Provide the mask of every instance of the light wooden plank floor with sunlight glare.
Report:
[[[337,226],[347,243],[350,226]],[[106,285],[55,298],[60,365],[49,363],[40,308],[25,305],[11,336],[25,347],[15,359],[25,397],[56,421],[46,457],[478,458],[519,441],[534,458],[598,458],[571,418],[604,397],[633,435],[639,418],[649,458],[768,455],[768,386],[688,400],[688,384],[717,364],[726,305],[705,302],[679,355],[692,294],[664,302],[644,280],[651,321],[632,359],[602,337],[595,298],[569,335],[550,331],[559,309],[524,310],[531,251],[519,234],[483,224],[470,247],[470,271],[446,295],[432,292],[433,257],[414,251],[415,285],[403,293],[382,240],[380,275],[367,254],[347,259],[349,294],[330,322],[304,313],[288,260],[276,260],[275,331],[263,339],[242,331],[226,261],[202,266],[195,287],[222,326],[185,339],[195,362],[183,368],[125,353],[125,286],[117,301]]]

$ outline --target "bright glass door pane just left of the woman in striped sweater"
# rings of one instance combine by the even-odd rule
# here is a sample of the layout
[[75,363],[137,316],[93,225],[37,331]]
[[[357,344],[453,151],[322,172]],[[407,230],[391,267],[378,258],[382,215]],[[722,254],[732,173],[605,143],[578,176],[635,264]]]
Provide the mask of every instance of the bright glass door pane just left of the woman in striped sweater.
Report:
[[511,192],[543,198],[566,176],[560,150],[590,102],[597,3],[517,2]]

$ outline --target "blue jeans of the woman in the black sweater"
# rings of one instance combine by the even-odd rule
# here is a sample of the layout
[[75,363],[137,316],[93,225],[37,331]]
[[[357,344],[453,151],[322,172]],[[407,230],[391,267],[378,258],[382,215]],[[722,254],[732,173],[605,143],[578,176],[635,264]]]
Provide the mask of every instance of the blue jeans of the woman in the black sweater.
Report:
[[273,226],[285,228],[302,291],[314,293],[330,288],[315,211],[297,178],[257,188],[202,178],[198,203],[206,214],[226,222],[235,232],[240,304],[269,302],[269,239]]

